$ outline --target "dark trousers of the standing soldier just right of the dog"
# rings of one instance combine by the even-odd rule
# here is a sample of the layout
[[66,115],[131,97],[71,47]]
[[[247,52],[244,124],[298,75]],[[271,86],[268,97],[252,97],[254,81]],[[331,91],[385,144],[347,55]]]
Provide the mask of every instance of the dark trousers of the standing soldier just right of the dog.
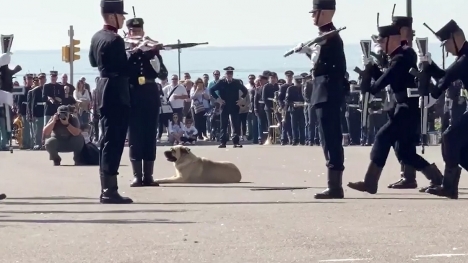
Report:
[[319,123],[321,146],[327,167],[330,170],[344,170],[344,151],[341,132],[341,105],[325,102],[315,106],[315,113]]

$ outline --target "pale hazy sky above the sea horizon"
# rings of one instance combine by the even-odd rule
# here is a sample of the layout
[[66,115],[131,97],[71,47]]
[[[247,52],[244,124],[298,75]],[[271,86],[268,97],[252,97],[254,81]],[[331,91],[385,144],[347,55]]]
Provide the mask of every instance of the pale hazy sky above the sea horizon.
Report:
[[[437,41],[423,22],[435,30],[450,19],[468,27],[466,0],[412,2],[418,37]],[[381,13],[382,25],[390,23],[394,3],[395,15],[406,14],[405,0],[337,0],[335,24],[347,27],[341,33],[344,41],[369,39],[376,31],[376,13]],[[292,45],[317,32],[308,13],[312,0],[126,0],[129,17],[132,5],[137,16],[145,19],[147,34],[163,43],[181,39],[208,41],[213,46]],[[60,49],[67,44],[70,25],[82,49],[87,49],[102,25],[99,0],[0,0],[0,6],[0,33],[15,34],[13,51]]]

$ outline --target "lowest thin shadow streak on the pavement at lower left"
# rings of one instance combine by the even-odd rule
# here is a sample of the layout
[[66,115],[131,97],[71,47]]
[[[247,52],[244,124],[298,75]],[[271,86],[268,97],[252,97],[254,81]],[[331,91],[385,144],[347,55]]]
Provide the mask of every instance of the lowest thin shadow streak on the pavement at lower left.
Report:
[[0,223],[32,223],[32,224],[194,224],[196,222],[190,221],[171,221],[167,219],[153,219],[153,220],[61,220],[61,219],[0,219]]

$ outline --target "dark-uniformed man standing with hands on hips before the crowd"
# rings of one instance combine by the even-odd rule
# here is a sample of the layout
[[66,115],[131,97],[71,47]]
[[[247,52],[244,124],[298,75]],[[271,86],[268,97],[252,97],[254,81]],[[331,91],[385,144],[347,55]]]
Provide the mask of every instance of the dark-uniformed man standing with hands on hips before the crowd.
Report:
[[[221,111],[221,144],[218,148],[226,148],[229,136],[227,131],[229,117],[231,117],[232,128],[234,130],[234,137],[232,138],[234,148],[242,148],[242,145],[239,142],[239,105],[245,105],[247,103],[245,101],[245,97],[247,97],[249,92],[240,80],[233,78],[233,67],[226,67],[224,70],[226,71],[226,78],[218,81],[210,89],[211,96],[223,107],[223,110]],[[239,99],[239,91],[242,91],[242,99]]]

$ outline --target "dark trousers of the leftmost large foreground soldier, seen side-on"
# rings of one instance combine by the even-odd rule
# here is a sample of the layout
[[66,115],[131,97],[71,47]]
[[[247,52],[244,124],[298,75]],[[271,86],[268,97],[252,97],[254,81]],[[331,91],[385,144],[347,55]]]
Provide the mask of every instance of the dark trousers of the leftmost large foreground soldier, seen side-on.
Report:
[[99,173],[101,177],[112,177],[119,174],[129,117],[130,109],[126,106],[101,108],[99,118],[102,130],[99,148]]

